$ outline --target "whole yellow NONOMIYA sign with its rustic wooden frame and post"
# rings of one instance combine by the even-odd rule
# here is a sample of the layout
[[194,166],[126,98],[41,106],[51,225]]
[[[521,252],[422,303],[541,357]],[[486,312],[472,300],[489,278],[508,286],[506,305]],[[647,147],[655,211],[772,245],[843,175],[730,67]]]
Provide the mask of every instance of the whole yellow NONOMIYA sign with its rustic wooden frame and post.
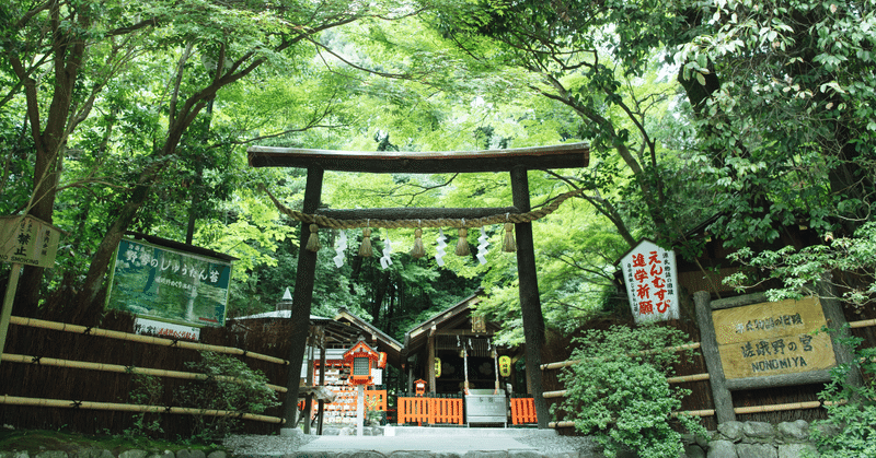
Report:
[[[718,423],[736,420],[730,391],[827,383],[832,367],[854,357],[837,340],[846,321],[831,297],[711,301],[705,291],[694,293]],[[833,331],[821,332],[826,326]]]

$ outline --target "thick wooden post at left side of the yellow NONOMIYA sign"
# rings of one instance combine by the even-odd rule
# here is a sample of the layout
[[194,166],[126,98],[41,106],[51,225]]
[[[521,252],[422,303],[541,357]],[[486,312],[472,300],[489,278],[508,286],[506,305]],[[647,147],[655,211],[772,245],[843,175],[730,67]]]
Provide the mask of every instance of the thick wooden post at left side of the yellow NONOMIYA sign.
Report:
[[707,291],[693,293],[696,306],[696,325],[700,327],[700,349],[708,369],[708,385],[712,387],[712,398],[715,402],[715,418],[718,423],[736,421],[733,410],[733,397],[727,389],[724,378],[724,366],[718,354],[718,341],[715,336],[715,325],[712,321],[712,305]]

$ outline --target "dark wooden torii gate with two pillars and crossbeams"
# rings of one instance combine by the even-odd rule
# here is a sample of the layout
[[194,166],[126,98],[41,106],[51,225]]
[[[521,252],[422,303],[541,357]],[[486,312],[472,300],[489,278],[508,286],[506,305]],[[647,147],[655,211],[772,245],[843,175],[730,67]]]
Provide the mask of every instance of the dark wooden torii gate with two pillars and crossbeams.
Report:
[[[495,214],[518,215],[528,213],[531,210],[529,180],[527,178],[528,171],[586,167],[589,162],[589,148],[586,143],[473,152],[426,153],[251,146],[247,153],[250,166],[253,167],[307,168],[308,176],[302,212],[316,216],[346,220],[474,220]],[[506,172],[510,173],[512,207],[486,209],[319,209],[325,171],[399,174]],[[319,223],[319,220],[316,223]],[[523,336],[526,339],[527,377],[535,401],[539,427],[546,428],[550,413],[548,403],[542,396],[543,389],[539,369],[541,365],[541,348],[544,342],[544,316],[542,315],[535,273],[532,223],[517,222],[515,223],[515,232],[517,233],[517,270],[520,284],[519,294],[523,317]],[[301,250],[298,257],[298,273],[295,292],[292,293],[292,313],[290,317],[293,322],[293,331],[288,357],[288,391],[284,402],[284,419],[287,425],[296,424],[300,376],[298,371],[300,371],[304,356],[313,300],[316,253],[304,249],[309,237],[310,224],[302,222]]]

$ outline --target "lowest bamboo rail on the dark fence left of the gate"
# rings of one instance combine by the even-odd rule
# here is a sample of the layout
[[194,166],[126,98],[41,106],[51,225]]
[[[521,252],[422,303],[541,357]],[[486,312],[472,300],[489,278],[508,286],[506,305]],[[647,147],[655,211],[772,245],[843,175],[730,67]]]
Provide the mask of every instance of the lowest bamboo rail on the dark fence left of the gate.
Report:
[[0,397],[0,404],[27,406],[27,407],[53,407],[71,409],[91,410],[113,410],[120,412],[143,412],[143,413],[185,413],[194,415],[209,416],[235,416],[242,420],[252,420],[265,423],[284,423],[283,419],[268,415],[257,415],[255,413],[230,412],[227,410],[193,409],[184,407],[161,407],[161,406],[139,406],[122,404],[113,402],[92,402],[92,401],[71,401],[62,399],[45,398],[22,398],[18,396],[3,395]]

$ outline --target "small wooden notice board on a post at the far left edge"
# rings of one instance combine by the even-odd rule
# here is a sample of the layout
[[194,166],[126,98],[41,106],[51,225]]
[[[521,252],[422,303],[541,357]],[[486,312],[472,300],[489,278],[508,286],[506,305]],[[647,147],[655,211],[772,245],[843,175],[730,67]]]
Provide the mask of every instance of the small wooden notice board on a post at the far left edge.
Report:
[[33,216],[0,218],[0,261],[55,267],[61,231]]

